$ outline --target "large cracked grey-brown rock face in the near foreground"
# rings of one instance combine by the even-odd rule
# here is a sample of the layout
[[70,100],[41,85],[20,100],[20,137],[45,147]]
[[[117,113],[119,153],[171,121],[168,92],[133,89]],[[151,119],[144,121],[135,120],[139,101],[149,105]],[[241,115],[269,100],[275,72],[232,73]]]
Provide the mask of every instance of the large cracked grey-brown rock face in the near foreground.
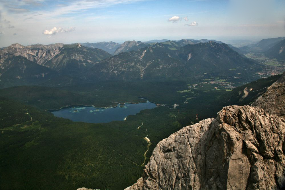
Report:
[[155,147],[137,189],[282,189],[285,120],[250,106],[186,126]]

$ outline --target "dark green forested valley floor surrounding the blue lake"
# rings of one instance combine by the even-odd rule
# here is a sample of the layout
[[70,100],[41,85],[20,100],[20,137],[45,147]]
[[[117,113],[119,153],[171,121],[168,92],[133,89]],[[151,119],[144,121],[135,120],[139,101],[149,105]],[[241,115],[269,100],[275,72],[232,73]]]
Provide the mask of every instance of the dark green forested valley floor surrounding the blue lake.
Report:
[[[245,87],[235,87],[257,76],[1,89],[0,189],[124,189],[141,176],[156,144],[198,122],[196,114],[199,120],[216,117],[235,101],[232,97],[247,104],[255,98],[253,91],[278,78],[251,84],[255,90],[238,102]],[[139,97],[159,107],[106,124],[72,122],[44,111],[75,104],[138,103]]]

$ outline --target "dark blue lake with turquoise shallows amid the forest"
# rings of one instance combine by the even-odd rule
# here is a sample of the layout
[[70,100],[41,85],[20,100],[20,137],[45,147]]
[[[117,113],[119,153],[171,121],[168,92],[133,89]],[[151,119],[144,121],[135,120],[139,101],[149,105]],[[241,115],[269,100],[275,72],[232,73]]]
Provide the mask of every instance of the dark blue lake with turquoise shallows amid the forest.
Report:
[[54,116],[81,121],[87,123],[107,123],[111,121],[124,120],[128,115],[136,115],[141,110],[155,108],[156,105],[149,101],[145,103],[124,105],[118,104],[113,108],[96,108],[93,106],[74,106],[52,111]]

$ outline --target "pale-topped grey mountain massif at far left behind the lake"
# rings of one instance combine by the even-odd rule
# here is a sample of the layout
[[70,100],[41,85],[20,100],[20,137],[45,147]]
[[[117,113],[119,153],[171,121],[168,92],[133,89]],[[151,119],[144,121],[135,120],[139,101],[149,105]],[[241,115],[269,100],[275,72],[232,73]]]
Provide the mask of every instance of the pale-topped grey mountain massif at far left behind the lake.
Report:
[[79,83],[75,75],[111,56],[80,44],[12,44],[0,50],[0,88],[38,85],[51,79],[63,85]]

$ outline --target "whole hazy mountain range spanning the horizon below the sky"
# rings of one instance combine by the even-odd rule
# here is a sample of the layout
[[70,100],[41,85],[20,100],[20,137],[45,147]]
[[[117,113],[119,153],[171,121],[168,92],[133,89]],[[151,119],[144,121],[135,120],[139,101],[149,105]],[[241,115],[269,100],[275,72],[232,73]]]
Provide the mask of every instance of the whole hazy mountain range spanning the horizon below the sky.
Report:
[[[270,43],[274,45],[271,46]],[[271,46],[264,54],[284,60],[284,43],[282,38],[273,38],[261,40],[255,46]],[[162,81],[202,77],[205,74],[230,76],[239,73],[240,76],[245,76],[262,67],[254,60],[243,56],[251,51],[252,47],[236,48],[216,40],[182,39],[152,43],[126,41],[123,44],[115,42],[84,44],[86,46],[79,43],[29,46],[12,44],[1,48],[0,86],[17,85],[18,82],[21,85],[39,84],[61,79],[61,81],[78,83],[80,80]],[[115,55],[96,47],[108,50]],[[21,58],[12,58],[11,55],[21,56]],[[32,73],[27,75],[28,70],[21,69],[23,63],[29,64],[29,72]],[[9,65],[11,66],[8,67]],[[17,66],[22,72],[13,69]],[[45,77],[35,77],[41,73],[44,73]],[[4,81],[6,81],[5,84]]]

